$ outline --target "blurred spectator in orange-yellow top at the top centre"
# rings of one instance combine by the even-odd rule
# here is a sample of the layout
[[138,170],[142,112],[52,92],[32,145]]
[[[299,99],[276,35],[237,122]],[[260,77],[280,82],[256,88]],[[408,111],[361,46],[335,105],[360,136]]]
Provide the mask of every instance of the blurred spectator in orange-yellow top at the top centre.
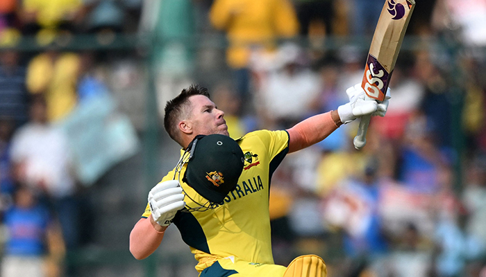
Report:
[[258,48],[271,52],[276,39],[294,37],[299,32],[296,11],[288,0],[216,0],[210,10],[210,21],[226,32],[229,41],[226,62],[233,69],[243,102],[251,99],[248,69],[251,52]]

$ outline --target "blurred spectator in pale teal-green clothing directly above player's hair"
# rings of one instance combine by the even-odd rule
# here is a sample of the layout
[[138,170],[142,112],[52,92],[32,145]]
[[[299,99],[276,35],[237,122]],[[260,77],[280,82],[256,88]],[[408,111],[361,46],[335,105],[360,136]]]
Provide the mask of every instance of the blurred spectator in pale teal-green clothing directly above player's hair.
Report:
[[[153,12],[156,10],[157,12]],[[208,23],[207,23],[208,24]],[[192,83],[196,59],[194,53],[200,49],[188,42],[188,38],[196,35],[196,10],[194,1],[144,1],[140,34],[153,34],[165,43],[153,44],[153,62],[151,69],[155,71],[157,102],[160,114],[164,113],[165,102],[177,95],[181,87]],[[209,62],[201,62],[210,69]]]

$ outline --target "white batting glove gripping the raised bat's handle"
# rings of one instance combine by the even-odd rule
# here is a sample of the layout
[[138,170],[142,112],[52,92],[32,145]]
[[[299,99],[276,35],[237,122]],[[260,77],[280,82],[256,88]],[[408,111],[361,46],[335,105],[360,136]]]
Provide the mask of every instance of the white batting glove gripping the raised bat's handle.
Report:
[[346,124],[361,116],[385,116],[388,109],[389,88],[387,89],[387,96],[383,102],[376,102],[376,100],[368,98],[361,84],[355,84],[353,87],[346,89],[346,94],[349,97],[349,102],[337,107],[337,114],[339,114],[341,122]]

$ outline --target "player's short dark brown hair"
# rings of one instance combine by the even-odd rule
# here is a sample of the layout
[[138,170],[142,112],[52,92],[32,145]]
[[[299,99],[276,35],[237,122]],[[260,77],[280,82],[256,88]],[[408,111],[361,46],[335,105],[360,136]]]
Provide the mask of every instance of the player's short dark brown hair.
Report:
[[[189,104],[190,96],[202,95],[209,97],[208,89],[206,87],[199,87],[198,84],[192,84],[187,89],[183,89],[181,93],[174,99],[167,101],[165,105],[164,127],[165,131],[171,139],[181,144],[179,137],[177,123],[184,116],[185,107]],[[182,145],[185,147],[184,145]]]

